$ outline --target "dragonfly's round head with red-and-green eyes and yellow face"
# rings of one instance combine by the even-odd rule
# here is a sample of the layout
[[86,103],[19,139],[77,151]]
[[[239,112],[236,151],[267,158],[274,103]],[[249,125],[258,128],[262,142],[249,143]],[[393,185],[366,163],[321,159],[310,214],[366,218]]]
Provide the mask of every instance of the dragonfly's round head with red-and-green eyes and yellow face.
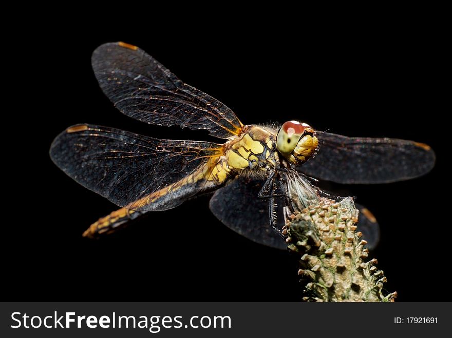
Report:
[[308,161],[317,145],[314,129],[298,121],[284,123],[276,135],[276,148],[293,164],[303,164]]

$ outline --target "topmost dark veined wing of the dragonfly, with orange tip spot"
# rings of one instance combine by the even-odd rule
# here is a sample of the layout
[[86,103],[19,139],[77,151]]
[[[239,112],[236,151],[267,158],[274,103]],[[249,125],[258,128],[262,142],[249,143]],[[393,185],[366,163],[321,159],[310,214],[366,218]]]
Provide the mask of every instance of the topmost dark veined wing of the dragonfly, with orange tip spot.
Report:
[[206,129],[220,138],[242,129],[231,109],[184,84],[138,47],[104,44],[93,52],[91,62],[105,95],[130,117],[154,125]]

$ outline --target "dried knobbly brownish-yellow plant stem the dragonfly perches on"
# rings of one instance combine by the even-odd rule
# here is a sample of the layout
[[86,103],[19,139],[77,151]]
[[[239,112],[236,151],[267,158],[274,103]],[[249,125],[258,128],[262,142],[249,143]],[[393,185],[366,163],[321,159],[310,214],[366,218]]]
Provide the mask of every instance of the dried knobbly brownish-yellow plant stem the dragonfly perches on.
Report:
[[317,204],[295,212],[283,232],[289,250],[299,255],[304,301],[393,302],[397,292],[383,295],[386,277],[365,263],[367,243],[356,232],[359,211],[351,197],[341,202],[321,198]]

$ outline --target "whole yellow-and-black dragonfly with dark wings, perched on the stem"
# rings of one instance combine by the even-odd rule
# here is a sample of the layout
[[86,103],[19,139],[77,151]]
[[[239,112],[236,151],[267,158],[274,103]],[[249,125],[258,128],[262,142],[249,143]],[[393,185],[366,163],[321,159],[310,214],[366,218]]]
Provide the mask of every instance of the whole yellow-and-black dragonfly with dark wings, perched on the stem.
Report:
[[[130,44],[103,44],[91,62],[102,91],[125,115],[150,125],[207,130],[222,141],[159,140],[89,124],[68,127],[50,147],[52,161],[121,207],[93,223],[86,237],[214,192],[210,209],[223,224],[254,242],[284,249],[274,229],[284,224],[281,210],[290,204],[288,195],[307,207],[323,194],[315,180],[390,183],[424,175],[435,164],[434,151],[423,143],[347,137],[300,121],[243,125],[227,106]],[[368,209],[358,208],[358,227],[373,247],[378,223]]]

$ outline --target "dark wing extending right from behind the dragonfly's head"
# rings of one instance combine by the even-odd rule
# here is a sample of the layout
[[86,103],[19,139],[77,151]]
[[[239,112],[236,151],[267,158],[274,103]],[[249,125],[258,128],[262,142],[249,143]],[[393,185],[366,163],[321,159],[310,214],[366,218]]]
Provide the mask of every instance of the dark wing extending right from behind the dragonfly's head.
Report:
[[317,154],[298,170],[322,180],[343,184],[390,183],[421,176],[435,165],[435,152],[423,143],[327,132],[317,136]]

